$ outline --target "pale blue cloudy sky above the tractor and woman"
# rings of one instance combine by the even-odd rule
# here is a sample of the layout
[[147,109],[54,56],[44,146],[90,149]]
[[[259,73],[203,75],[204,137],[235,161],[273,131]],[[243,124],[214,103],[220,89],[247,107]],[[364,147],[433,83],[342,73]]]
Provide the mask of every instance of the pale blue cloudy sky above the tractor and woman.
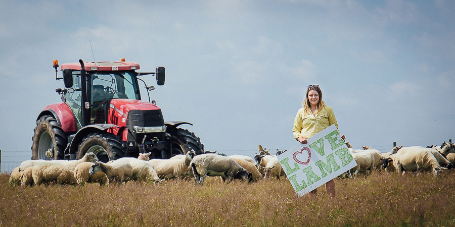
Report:
[[[150,96],[206,150],[252,156],[296,145],[319,84],[354,148],[455,139],[454,1],[2,1],[0,150],[29,152],[36,118],[61,102],[60,64],[166,68]],[[91,47],[93,48],[90,48]],[[61,71],[59,71],[61,76]],[[143,100],[148,101],[142,89]],[[3,159],[2,159],[3,160]]]

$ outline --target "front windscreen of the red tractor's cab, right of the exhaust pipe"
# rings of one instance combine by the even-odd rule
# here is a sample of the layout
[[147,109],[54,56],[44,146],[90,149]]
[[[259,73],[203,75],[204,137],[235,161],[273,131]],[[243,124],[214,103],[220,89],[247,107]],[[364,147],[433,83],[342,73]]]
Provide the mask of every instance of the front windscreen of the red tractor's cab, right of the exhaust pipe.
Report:
[[140,99],[138,86],[130,72],[99,72],[91,74],[90,77],[92,78],[90,124],[106,123],[107,104],[110,99]]

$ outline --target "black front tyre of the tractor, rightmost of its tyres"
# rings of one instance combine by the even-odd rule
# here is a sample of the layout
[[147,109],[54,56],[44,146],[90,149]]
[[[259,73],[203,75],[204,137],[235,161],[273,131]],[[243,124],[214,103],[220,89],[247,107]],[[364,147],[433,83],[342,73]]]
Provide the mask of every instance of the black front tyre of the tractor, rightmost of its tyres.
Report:
[[204,144],[193,132],[186,129],[176,128],[171,132],[172,156],[186,154],[190,150],[196,151],[196,155],[204,152]]

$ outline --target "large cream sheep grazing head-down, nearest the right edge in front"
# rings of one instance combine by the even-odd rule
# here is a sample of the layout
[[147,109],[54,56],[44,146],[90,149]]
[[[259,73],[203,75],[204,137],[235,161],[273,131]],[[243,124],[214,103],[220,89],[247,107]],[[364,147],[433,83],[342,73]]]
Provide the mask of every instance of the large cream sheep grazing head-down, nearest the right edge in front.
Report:
[[441,167],[433,155],[432,148],[421,146],[403,147],[396,153],[394,162],[398,173],[404,174],[405,171],[419,173],[422,169],[431,170],[433,175],[442,171]]

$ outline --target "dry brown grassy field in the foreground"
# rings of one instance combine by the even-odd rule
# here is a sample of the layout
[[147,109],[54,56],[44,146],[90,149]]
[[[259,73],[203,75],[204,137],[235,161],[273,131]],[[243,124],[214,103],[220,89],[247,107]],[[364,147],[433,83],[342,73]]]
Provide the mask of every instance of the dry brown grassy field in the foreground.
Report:
[[0,226],[455,226],[455,172],[373,173],[298,197],[288,180],[204,186],[11,186],[0,175]]

